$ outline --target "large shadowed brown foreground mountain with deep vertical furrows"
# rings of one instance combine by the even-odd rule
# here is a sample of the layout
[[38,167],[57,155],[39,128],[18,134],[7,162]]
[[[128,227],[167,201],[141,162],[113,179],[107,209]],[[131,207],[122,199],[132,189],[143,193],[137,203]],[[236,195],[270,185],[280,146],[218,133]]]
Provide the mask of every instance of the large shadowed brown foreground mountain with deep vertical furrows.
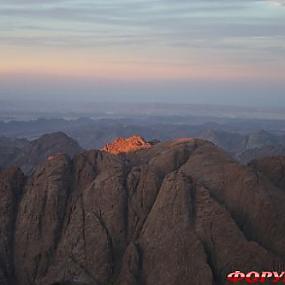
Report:
[[[285,262],[285,195],[212,143],[175,140],[0,175],[0,284],[213,285]],[[274,183],[273,183],[274,182]]]

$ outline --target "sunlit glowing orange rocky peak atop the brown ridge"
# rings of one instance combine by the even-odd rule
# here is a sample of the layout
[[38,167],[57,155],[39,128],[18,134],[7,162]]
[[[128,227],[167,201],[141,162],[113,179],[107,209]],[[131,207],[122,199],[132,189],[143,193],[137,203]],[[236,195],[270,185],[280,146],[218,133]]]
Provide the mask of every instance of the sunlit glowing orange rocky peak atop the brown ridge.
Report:
[[119,154],[146,149],[151,146],[152,144],[147,142],[143,137],[134,135],[128,138],[119,137],[115,139],[112,143],[106,144],[103,147],[103,151]]

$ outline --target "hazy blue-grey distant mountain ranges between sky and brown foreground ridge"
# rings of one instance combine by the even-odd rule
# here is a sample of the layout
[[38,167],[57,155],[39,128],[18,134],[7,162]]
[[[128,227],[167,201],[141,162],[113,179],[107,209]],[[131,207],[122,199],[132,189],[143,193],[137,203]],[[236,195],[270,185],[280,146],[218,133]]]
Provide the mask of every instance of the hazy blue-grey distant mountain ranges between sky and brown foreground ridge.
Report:
[[[197,120],[196,118],[196,120],[189,121],[187,117],[138,117],[0,122],[0,152],[2,154],[0,167],[16,164],[21,165],[26,172],[46,158],[47,154],[54,152],[55,145],[61,148],[55,149],[58,152],[64,150],[66,144],[69,145],[66,152],[73,155],[81,147],[82,149],[102,148],[117,137],[129,137],[134,134],[141,135],[147,141],[166,141],[179,137],[202,138],[215,143],[242,163],[248,163],[255,158],[285,154],[284,122],[281,124],[279,121],[264,120],[257,124],[255,120],[226,120],[220,123],[198,124]],[[259,130],[257,126],[265,127],[267,130]],[[31,152],[29,148],[32,146],[29,141],[35,141],[33,148],[36,148],[38,143],[41,144],[37,141],[40,136],[54,132],[65,132],[70,140],[65,136],[65,139],[55,141],[53,146],[48,145],[46,149],[50,152],[39,148],[36,155],[39,158],[31,157],[32,162],[25,158],[25,154]],[[58,138],[55,137],[55,139]],[[45,140],[46,138],[43,141]],[[50,137],[47,143],[52,144],[52,140],[53,138]]]

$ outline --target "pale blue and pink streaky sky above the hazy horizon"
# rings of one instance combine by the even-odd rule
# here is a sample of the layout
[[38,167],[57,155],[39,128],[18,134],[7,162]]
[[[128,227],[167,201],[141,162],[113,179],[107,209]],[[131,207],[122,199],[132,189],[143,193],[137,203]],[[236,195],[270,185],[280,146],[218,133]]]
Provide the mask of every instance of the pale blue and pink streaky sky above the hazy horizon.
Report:
[[0,99],[285,107],[285,0],[0,0]]

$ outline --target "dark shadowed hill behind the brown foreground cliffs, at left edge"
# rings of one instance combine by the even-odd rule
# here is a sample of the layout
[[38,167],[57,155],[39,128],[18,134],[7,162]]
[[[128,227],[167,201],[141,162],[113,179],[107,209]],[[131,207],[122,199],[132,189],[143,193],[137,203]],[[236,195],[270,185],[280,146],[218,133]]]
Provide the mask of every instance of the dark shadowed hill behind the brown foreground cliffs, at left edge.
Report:
[[25,174],[31,174],[37,165],[51,155],[65,153],[73,157],[81,150],[76,141],[62,132],[46,134],[33,141],[2,138],[0,167],[17,166]]

